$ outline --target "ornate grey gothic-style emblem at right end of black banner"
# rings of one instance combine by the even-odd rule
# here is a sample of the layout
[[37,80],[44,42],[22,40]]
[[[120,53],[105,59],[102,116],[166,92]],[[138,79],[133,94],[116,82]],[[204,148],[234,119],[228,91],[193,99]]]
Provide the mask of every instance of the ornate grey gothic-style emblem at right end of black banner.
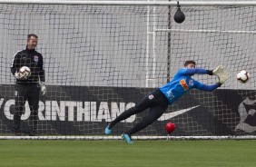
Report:
[[240,123],[235,127],[235,131],[243,131],[245,133],[253,133],[256,131],[256,125],[251,124],[256,116],[256,100],[245,98],[238,106],[238,113],[240,114]]

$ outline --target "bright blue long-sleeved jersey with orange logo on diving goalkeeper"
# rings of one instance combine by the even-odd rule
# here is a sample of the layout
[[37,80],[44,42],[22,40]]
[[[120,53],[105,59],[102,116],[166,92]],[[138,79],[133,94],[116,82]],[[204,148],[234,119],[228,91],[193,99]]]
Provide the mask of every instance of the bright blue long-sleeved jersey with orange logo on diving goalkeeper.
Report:
[[160,87],[161,92],[166,96],[169,103],[175,102],[184,93],[196,88],[203,91],[213,91],[219,87],[218,83],[206,85],[192,79],[192,74],[208,74],[202,68],[182,68],[174,75],[172,81]]

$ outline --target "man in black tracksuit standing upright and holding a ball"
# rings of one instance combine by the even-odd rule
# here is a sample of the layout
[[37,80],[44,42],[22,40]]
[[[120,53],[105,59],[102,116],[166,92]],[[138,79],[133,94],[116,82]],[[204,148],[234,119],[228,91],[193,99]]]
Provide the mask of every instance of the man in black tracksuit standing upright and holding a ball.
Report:
[[[29,135],[37,135],[37,121],[38,121],[38,107],[39,94],[45,93],[44,85],[44,61],[42,54],[35,51],[37,45],[37,35],[28,34],[27,44],[25,50],[19,51],[15,54],[12,64],[11,72],[15,75],[15,113],[14,113],[14,132],[15,135],[20,135],[21,116],[25,110],[25,101],[28,101],[31,111],[28,126]],[[21,67],[27,66],[31,70],[31,75],[26,78],[19,73]],[[38,84],[40,86],[38,86]],[[41,88],[40,88],[41,87]]]

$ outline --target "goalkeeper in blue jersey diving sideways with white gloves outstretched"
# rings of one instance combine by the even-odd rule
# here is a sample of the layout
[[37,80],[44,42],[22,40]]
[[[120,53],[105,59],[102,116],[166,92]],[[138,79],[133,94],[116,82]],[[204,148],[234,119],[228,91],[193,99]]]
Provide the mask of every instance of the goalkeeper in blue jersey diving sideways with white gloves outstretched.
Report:
[[[209,74],[217,75],[218,83],[207,85],[192,79],[193,74]],[[104,130],[105,134],[111,134],[113,126],[136,113],[141,113],[150,108],[149,114],[129,131],[123,133],[123,139],[128,143],[133,143],[132,134],[137,133],[143,128],[155,122],[167,110],[168,105],[174,103],[184,93],[191,89],[199,89],[202,91],[212,92],[220,87],[229,78],[230,74],[224,70],[222,65],[219,65],[215,70],[205,70],[202,68],[195,68],[194,61],[186,61],[184,68],[178,70],[174,75],[172,81],[166,83],[162,87],[156,89],[152,93],[145,96],[141,102],[116,117],[113,122],[109,123]]]

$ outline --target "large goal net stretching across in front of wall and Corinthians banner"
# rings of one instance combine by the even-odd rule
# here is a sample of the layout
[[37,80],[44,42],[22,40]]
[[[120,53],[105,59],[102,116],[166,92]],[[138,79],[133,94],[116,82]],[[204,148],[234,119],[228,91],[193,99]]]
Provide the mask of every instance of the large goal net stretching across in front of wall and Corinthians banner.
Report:
[[[111,136],[103,135],[104,127],[172,79],[186,60],[209,70],[222,64],[231,77],[211,93],[186,93],[158,121],[134,135],[138,139],[164,138],[169,122],[176,126],[173,138],[255,135],[255,5],[181,2],[185,20],[178,24],[173,20],[174,2],[34,2],[0,1],[2,137],[13,136],[15,77],[10,65],[14,54],[25,49],[27,34],[32,33],[38,35],[36,50],[44,56],[47,92],[40,97],[37,129],[45,139],[118,138],[148,111],[118,123]],[[251,74],[248,83],[237,81],[241,70]],[[206,84],[218,81],[208,75],[193,78]],[[25,103],[23,136],[27,136],[29,116]]]

